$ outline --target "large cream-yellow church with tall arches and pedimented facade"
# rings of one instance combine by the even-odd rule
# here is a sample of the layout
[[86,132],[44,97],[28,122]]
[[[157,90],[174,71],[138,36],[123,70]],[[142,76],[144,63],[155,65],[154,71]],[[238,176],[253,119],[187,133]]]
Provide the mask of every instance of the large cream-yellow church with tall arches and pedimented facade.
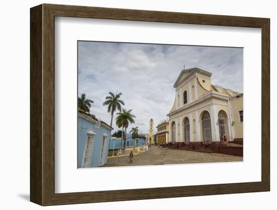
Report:
[[[169,142],[197,149],[243,139],[243,93],[211,83],[212,73],[184,69],[174,83],[169,114]],[[228,79],[228,78],[226,78]]]

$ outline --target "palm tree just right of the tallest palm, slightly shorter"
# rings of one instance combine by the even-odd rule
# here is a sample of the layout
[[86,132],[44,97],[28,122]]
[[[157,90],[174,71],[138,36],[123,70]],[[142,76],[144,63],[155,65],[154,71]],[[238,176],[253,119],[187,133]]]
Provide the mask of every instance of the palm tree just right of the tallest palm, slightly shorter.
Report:
[[[122,127],[122,136],[121,136],[121,147],[122,147],[122,140],[123,140],[123,129],[125,128],[125,137],[124,137],[124,143],[126,141],[126,134],[127,134],[127,127],[129,126],[129,123],[134,123],[135,116],[131,114],[132,110],[125,110],[122,109],[122,112],[116,113],[116,125],[121,128]],[[125,144],[124,144],[125,145]],[[125,147],[125,146],[123,146]]]

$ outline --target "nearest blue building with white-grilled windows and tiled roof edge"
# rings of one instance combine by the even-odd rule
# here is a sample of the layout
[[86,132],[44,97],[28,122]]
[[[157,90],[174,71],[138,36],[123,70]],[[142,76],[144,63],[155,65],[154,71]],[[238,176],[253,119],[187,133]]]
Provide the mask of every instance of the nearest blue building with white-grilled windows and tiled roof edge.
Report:
[[78,168],[91,168],[107,163],[111,130],[95,116],[78,110]]

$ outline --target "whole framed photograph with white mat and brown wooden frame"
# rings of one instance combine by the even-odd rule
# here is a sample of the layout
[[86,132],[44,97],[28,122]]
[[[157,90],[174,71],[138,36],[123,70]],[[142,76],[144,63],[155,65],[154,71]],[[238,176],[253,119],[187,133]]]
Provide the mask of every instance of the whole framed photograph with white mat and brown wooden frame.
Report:
[[30,15],[32,202],[270,190],[269,19]]

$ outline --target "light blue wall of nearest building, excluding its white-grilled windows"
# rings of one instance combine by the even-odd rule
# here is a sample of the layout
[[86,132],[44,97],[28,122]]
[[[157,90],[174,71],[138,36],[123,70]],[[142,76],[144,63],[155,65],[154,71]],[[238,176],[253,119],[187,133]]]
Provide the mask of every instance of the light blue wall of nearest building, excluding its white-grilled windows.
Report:
[[[78,168],[82,168],[82,161],[84,155],[84,149],[87,141],[87,133],[94,128],[94,123],[85,120],[78,116]],[[92,162],[90,167],[98,167],[100,163],[101,147],[103,135],[107,134],[107,147],[105,155],[105,163],[107,163],[108,149],[109,149],[109,139],[111,136],[111,131],[105,128],[103,125],[99,129],[93,130],[96,135],[94,136],[94,147],[92,151]]]

